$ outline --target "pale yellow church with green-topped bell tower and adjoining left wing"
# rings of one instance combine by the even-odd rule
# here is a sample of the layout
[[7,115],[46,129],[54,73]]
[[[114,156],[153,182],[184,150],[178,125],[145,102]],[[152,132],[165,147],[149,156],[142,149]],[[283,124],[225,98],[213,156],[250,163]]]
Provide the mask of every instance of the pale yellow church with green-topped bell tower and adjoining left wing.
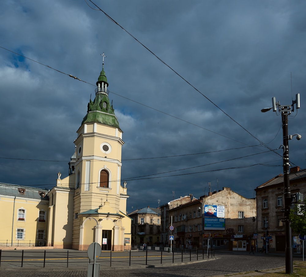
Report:
[[[103,56],[104,58],[104,56]],[[77,130],[69,175],[50,190],[0,184],[0,245],[51,246],[87,250],[130,249],[131,218],[126,213],[126,182],[121,183],[122,130],[108,98],[104,61],[95,99]],[[31,243],[32,241],[32,243]]]

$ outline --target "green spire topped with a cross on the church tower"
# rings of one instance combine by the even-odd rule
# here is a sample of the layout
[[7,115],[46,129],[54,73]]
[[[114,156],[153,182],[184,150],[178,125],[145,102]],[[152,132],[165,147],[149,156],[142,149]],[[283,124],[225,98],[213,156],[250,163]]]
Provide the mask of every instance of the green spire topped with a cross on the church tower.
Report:
[[115,116],[113,109],[113,103],[110,104],[110,100],[108,98],[108,83],[104,71],[104,57],[106,57],[104,52],[101,54],[101,56],[103,56],[102,71],[100,72],[98,81],[96,83],[97,88],[95,89],[95,100],[92,102],[90,99],[87,106],[87,114],[84,117],[82,124],[97,122],[119,128],[118,119]]

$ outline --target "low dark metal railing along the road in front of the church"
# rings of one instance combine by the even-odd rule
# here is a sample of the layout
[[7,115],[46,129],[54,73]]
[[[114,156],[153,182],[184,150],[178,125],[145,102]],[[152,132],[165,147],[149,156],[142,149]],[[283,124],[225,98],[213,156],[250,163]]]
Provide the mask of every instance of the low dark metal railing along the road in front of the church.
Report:
[[[208,253],[208,255],[207,255]],[[148,265],[148,264],[163,264],[163,263],[182,263],[197,261],[204,258],[211,258],[215,256],[213,249],[208,252],[204,249],[172,249],[167,251],[137,251],[131,250],[124,252],[101,252],[99,259],[97,260],[101,266],[131,266],[135,265]],[[0,267],[5,266],[39,266],[39,267],[75,267],[75,266],[87,266],[91,263],[87,256],[86,251],[77,250],[2,250],[0,249]]]

